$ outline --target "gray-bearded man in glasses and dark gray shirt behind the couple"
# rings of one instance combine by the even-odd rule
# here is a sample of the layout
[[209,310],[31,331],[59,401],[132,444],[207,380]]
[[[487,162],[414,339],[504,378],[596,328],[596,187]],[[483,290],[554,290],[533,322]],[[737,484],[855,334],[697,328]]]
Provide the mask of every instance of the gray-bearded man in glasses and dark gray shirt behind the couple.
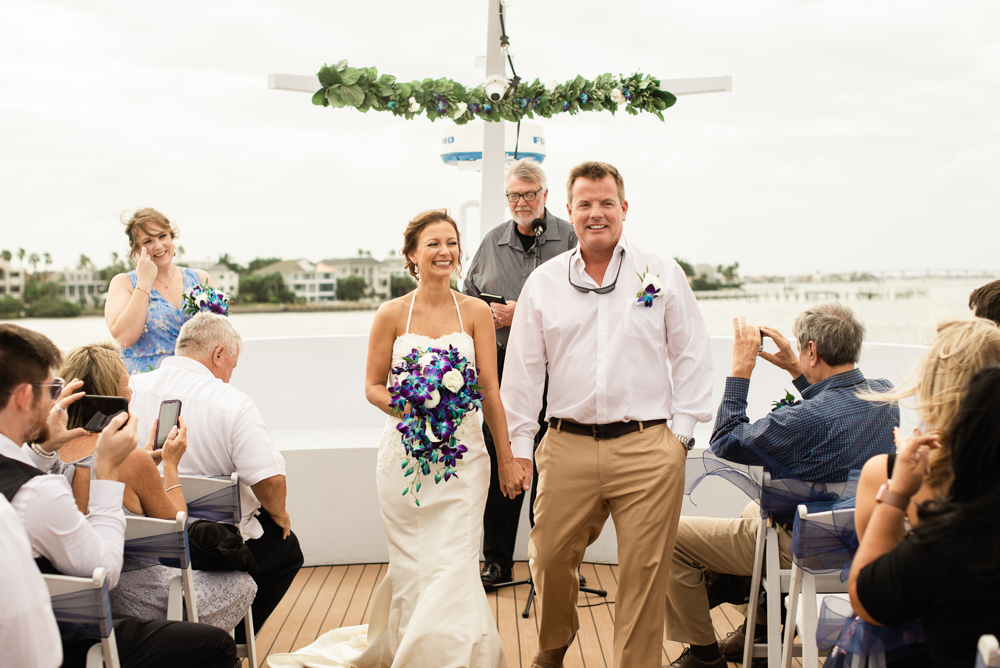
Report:
[[[483,238],[462,288],[471,297],[494,295],[503,298],[503,302],[490,303],[493,326],[497,330],[498,383],[503,379],[514,309],[528,275],[556,255],[576,247],[573,226],[556,218],[545,208],[549,189],[545,172],[537,162],[528,158],[514,162],[507,171],[504,187],[513,219],[493,228]],[[542,414],[544,413],[543,406]],[[539,422],[535,443],[540,442],[545,435],[544,419],[540,417]],[[481,578],[484,585],[492,586],[511,581],[514,543],[517,540],[517,524],[524,495],[518,494],[508,499],[500,491],[496,447],[493,445],[493,435],[485,424],[483,436],[493,466],[486,511],[483,513],[485,565]]]

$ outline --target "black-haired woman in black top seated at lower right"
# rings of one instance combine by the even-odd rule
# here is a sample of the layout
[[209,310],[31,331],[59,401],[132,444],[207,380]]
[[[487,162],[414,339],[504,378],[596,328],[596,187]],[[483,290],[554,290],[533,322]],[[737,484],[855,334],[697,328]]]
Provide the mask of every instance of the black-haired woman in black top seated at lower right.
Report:
[[[1000,366],[972,379],[950,443],[951,485],[920,505],[920,525],[905,536],[911,499],[932,472],[934,434],[899,450],[891,482],[879,493],[851,567],[854,611],[898,625],[922,619],[935,666],[972,666],[976,643],[1000,632]],[[905,537],[904,537],[905,536]]]

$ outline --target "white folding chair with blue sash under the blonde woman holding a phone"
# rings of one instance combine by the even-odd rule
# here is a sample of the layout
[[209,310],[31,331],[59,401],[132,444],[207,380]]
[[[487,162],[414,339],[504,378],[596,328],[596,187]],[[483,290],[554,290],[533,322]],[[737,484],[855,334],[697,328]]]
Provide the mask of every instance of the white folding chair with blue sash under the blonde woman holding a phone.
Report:
[[181,574],[170,580],[167,619],[184,621],[183,608],[186,607],[187,621],[198,621],[198,600],[194,592],[194,571],[191,568],[191,550],[188,545],[187,513],[178,512],[174,520],[126,518],[125,556],[153,564],[166,562],[166,565],[179,568]]

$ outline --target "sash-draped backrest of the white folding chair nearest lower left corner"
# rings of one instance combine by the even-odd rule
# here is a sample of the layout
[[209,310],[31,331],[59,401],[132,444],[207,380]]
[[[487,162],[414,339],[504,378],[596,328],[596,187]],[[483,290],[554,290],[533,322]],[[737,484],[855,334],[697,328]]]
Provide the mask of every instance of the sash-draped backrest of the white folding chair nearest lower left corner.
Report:
[[94,569],[91,578],[68,575],[44,575],[52,598],[52,612],[59,629],[91,638],[111,636],[111,599],[108,597],[107,572]]

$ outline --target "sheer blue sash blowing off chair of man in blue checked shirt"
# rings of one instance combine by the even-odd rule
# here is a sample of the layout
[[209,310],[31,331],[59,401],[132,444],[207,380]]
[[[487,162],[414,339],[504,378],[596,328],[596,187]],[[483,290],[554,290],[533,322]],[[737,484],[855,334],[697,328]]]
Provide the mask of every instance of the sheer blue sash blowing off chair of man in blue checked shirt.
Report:
[[[752,464],[734,464],[714,457],[689,457],[686,462],[684,493],[691,492],[709,476],[718,476],[743,491],[751,499],[760,501],[765,517],[789,523],[795,516],[795,509],[801,503],[833,503],[855,496],[860,472],[851,471],[847,487],[840,494],[828,492],[822,483],[809,484],[802,481],[787,466],[778,463],[760,448],[743,442],[743,448],[750,453]],[[771,474],[771,482],[766,487],[757,479],[751,466],[762,466]],[[692,500],[692,503],[694,501]]]

